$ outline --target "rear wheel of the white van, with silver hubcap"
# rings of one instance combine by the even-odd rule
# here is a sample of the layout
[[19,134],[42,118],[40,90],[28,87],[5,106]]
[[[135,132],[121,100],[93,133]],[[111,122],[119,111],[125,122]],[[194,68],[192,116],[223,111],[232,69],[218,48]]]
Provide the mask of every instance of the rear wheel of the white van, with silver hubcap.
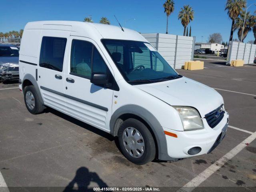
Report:
[[42,113],[44,110],[44,105],[39,99],[39,96],[36,92],[34,86],[27,86],[24,89],[24,101],[26,108],[32,114]]

